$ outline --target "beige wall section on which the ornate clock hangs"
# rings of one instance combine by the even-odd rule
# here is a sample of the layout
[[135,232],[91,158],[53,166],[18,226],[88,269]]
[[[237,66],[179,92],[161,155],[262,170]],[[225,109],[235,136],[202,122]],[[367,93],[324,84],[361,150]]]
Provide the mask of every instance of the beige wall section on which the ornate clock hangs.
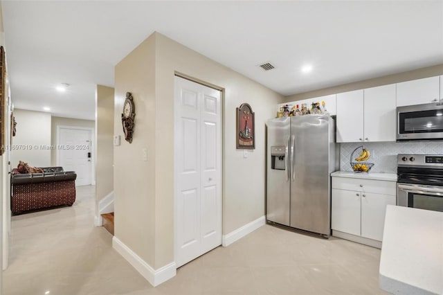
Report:
[[[114,134],[121,138],[114,146],[114,233],[154,267],[155,36],[119,62],[115,75]],[[127,91],[132,92],[136,112],[132,143],[125,141],[121,121]],[[147,161],[142,161],[143,147]]]

